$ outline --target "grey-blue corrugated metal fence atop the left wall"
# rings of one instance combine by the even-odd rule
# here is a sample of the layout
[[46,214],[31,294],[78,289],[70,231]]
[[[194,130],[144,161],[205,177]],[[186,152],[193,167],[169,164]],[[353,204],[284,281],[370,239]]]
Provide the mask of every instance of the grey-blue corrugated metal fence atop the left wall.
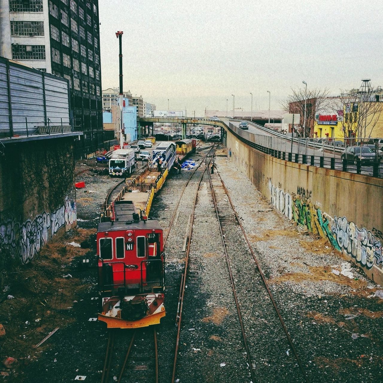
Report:
[[69,125],[67,79],[0,57],[0,137],[42,134],[51,128],[54,133],[64,126],[67,131]]

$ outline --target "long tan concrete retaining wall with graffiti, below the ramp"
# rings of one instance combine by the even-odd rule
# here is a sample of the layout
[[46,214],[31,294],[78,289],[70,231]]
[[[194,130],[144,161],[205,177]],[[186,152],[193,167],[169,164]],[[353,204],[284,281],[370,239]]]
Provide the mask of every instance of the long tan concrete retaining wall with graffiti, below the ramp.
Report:
[[383,180],[295,164],[247,146],[227,132],[228,157],[289,219],[328,239],[383,284]]

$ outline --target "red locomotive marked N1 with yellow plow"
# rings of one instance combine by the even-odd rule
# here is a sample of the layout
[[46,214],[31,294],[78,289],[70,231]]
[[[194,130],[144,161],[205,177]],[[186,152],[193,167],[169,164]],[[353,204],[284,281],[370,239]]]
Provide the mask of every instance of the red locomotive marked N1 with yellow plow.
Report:
[[100,321],[108,328],[159,324],[165,316],[162,228],[132,201],[115,201],[97,229]]

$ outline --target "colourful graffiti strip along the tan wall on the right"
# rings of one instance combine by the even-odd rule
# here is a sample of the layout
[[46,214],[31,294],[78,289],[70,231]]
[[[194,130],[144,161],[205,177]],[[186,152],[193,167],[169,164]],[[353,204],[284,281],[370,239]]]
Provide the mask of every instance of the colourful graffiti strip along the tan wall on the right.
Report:
[[346,217],[334,217],[322,212],[319,203],[311,199],[311,191],[298,187],[298,193],[287,193],[280,184],[275,187],[268,180],[270,200],[287,218],[305,226],[309,231],[327,238],[331,245],[353,257],[359,264],[371,268],[383,264],[381,232],[373,228],[358,228]]

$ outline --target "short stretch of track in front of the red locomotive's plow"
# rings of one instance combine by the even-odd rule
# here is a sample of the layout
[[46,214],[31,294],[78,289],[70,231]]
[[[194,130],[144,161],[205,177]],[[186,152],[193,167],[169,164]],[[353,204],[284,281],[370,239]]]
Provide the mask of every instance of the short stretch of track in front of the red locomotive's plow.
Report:
[[[124,332],[123,336],[121,333]],[[152,334],[152,335],[150,335]],[[125,342],[124,340],[129,340]],[[120,344],[117,345],[119,339]],[[121,341],[123,344],[121,345]],[[124,354],[118,354],[121,348],[128,345]],[[112,367],[117,366],[117,368]],[[121,365],[121,368],[118,368]],[[113,375],[115,373],[116,375]],[[113,375],[113,380],[110,378]],[[147,383],[158,383],[158,352],[156,327],[142,328],[135,330],[110,330],[108,331],[108,344],[106,346],[104,367],[101,375],[101,383],[110,381],[136,382],[145,381]]]

